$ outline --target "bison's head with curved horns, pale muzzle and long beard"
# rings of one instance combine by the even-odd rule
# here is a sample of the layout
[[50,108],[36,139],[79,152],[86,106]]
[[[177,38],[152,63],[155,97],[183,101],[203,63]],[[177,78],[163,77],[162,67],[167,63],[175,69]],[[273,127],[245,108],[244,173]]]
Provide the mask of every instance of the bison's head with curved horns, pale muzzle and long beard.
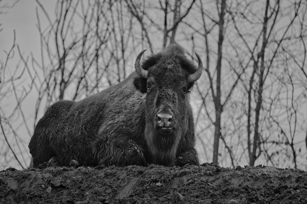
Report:
[[174,165],[180,139],[184,142],[188,134],[194,134],[189,90],[202,74],[202,61],[195,53],[196,68],[179,45],[170,45],[141,66],[145,51],[136,58],[135,70],[141,78],[134,82],[146,92],[145,139],[153,163]]

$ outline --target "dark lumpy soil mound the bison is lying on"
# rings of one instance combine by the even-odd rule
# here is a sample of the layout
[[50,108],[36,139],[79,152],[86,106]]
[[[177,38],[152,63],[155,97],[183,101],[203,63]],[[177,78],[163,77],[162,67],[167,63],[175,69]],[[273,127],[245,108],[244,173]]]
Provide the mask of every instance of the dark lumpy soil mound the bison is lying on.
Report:
[[0,204],[22,203],[306,204],[307,172],[212,163],[0,171]]

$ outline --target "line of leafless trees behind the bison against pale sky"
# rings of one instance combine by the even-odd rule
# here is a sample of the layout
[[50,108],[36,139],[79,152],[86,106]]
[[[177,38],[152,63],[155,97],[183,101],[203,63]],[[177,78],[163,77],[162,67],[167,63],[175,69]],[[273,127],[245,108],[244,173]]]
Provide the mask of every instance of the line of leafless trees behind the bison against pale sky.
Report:
[[28,141],[51,104],[117,84],[140,50],[178,43],[204,62],[191,93],[201,162],[306,170],[305,0],[58,0],[55,18],[36,3],[41,56],[14,38],[0,62],[1,168],[29,166]]

